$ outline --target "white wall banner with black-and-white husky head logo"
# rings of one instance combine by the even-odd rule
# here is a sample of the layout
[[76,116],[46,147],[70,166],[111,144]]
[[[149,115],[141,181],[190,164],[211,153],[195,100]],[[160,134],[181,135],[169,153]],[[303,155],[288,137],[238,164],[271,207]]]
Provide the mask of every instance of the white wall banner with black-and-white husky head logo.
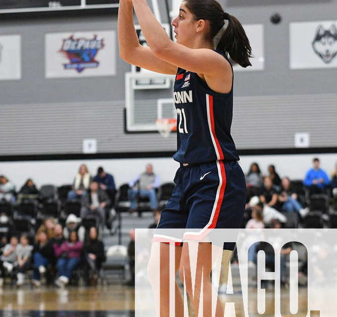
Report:
[[337,21],[291,23],[290,67],[337,67]]

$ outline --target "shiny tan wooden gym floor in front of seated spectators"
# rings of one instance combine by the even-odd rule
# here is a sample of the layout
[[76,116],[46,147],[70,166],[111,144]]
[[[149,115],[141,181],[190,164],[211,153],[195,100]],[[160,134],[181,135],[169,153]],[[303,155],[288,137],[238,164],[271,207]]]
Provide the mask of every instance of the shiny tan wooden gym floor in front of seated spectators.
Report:
[[[301,301],[301,292],[305,290],[299,291],[301,311],[301,306],[305,306],[303,300]],[[267,290],[267,301],[270,296],[268,293]],[[220,295],[222,301],[224,296]],[[265,316],[273,317],[268,304],[267,310],[269,314]],[[191,309],[189,311],[190,317],[195,316]],[[32,289],[29,286],[17,289],[6,286],[0,289],[0,317],[133,317],[134,315],[134,289],[127,286],[69,287],[66,289],[54,287]],[[229,315],[230,317],[243,316],[242,313],[236,316]]]

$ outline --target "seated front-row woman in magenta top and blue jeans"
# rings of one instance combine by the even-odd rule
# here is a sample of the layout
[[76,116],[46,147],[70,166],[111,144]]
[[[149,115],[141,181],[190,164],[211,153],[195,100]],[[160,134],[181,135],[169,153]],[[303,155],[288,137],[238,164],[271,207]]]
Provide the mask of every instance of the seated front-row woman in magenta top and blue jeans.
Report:
[[69,283],[73,270],[79,265],[81,260],[83,243],[78,240],[76,231],[69,234],[69,240],[55,248],[55,254],[58,258],[57,269],[59,278],[55,284],[64,287]]

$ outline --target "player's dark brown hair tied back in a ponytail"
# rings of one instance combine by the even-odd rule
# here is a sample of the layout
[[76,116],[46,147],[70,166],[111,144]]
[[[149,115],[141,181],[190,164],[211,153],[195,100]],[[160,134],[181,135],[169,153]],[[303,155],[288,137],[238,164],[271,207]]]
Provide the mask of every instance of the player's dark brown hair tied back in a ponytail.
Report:
[[231,60],[242,67],[252,66],[249,58],[252,49],[249,39],[241,23],[232,15],[225,13],[216,0],[185,0],[188,10],[195,16],[195,20],[209,20],[210,34],[213,40],[225,25],[228,25],[217,42],[216,49],[230,56]]

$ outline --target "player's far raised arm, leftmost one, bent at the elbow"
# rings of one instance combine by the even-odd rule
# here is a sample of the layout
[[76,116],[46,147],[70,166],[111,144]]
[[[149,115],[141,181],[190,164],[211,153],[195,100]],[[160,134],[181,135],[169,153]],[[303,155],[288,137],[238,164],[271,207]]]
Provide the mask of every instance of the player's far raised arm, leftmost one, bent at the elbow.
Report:
[[159,59],[149,48],[139,44],[131,0],[119,2],[118,43],[120,57],[129,64],[164,74],[175,74],[177,71],[176,66]]

